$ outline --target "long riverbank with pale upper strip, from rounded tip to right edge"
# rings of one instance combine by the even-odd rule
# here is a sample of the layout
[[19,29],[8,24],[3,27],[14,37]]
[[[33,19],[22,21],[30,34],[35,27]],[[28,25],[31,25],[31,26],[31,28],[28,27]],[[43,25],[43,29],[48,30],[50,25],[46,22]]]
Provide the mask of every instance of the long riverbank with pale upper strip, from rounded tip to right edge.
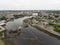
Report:
[[[30,21],[30,22],[28,22],[28,21]],[[42,28],[41,25],[31,23],[31,20],[29,20],[29,19],[25,19],[24,22],[25,23],[28,23],[29,25],[31,25],[31,26],[33,26],[35,28],[37,28],[40,31],[43,31],[43,32],[47,33],[48,35],[51,35],[53,37],[56,37],[56,38],[60,39],[60,33],[58,33],[58,32],[55,32],[53,30]]]

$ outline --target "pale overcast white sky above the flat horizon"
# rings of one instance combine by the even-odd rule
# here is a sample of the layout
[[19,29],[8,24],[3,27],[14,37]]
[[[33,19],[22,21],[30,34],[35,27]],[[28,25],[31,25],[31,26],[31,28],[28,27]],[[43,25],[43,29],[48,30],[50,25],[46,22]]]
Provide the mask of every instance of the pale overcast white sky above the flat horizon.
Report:
[[0,10],[60,10],[60,0],[0,0]]

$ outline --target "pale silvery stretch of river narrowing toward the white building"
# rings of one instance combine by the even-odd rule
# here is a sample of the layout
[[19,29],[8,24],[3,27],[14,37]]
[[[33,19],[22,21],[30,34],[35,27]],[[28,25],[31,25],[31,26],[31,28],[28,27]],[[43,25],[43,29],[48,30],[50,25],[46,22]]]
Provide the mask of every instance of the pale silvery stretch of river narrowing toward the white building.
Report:
[[22,17],[19,19],[14,19],[14,21],[9,21],[6,23],[6,28],[8,30],[17,30],[19,26],[23,25],[23,20],[30,17]]

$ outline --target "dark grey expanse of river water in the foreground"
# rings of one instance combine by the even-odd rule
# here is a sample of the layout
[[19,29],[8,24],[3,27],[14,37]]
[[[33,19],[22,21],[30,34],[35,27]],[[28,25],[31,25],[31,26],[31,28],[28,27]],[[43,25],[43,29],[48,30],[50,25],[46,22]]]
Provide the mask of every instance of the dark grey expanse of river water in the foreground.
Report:
[[23,28],[20,35],[10,39],[15,45],[60,45],[60,40],[31,26]]

